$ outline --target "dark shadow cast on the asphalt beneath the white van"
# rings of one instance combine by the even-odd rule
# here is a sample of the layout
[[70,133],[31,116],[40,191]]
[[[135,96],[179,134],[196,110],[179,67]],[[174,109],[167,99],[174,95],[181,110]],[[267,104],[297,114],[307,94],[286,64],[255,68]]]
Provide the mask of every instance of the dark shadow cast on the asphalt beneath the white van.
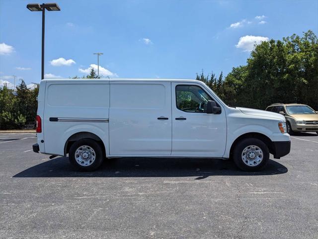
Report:
[[28,168],[13,177],[197,177],[215,175],[274,175],[288,169],[269,160],[260,172],[240,171],[233,161],[195,158],[116,158],[104,160],[94,172],[78,172],[67,157],[59,157]]

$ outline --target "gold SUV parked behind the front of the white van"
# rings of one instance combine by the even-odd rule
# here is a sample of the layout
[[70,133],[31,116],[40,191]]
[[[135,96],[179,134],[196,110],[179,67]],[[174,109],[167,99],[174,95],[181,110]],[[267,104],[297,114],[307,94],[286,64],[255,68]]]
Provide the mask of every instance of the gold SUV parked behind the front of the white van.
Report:
[[316,132],[318,134],[318,112],[302,104],[272,104],[266,111],[285,116],[287,132]]

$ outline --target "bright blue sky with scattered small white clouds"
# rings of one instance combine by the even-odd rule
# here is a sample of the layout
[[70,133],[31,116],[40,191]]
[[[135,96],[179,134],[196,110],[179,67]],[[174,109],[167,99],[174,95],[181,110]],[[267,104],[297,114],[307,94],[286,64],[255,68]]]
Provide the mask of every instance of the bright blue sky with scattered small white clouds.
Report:
[[[0,83],[41,78],[41,12],[0,0]],[[46,11],[46,77],[186,78],[244,65],[253,42],[309,29],[318,34],[318,1],[57,0]],[[39,2],[41,3],[41,2]],[[61,59],[64,58],[64,59]],[[95,65],[92,65],[95,64]]]

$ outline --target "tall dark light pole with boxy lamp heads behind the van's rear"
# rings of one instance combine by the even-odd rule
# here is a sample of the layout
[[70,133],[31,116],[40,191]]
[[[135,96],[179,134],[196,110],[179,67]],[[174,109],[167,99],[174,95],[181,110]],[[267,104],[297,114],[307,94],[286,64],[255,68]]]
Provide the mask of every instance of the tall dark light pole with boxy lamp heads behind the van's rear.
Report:
[[42,11],[42,70],[41,79],[44,79],[44,30],[45,30],[45,9],[48,11],[60,11],[60,7],[57,3],[30,3],[26,5],[30,11]]

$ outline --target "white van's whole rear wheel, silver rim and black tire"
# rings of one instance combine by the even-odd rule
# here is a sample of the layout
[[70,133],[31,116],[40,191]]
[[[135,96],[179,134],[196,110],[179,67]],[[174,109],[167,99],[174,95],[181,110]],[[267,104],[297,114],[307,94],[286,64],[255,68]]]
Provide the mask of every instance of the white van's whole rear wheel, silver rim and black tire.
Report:
[[84,138],[72,144],[69,158],[80,171],[94,171],[102,163],[103,153],[96,141]]

